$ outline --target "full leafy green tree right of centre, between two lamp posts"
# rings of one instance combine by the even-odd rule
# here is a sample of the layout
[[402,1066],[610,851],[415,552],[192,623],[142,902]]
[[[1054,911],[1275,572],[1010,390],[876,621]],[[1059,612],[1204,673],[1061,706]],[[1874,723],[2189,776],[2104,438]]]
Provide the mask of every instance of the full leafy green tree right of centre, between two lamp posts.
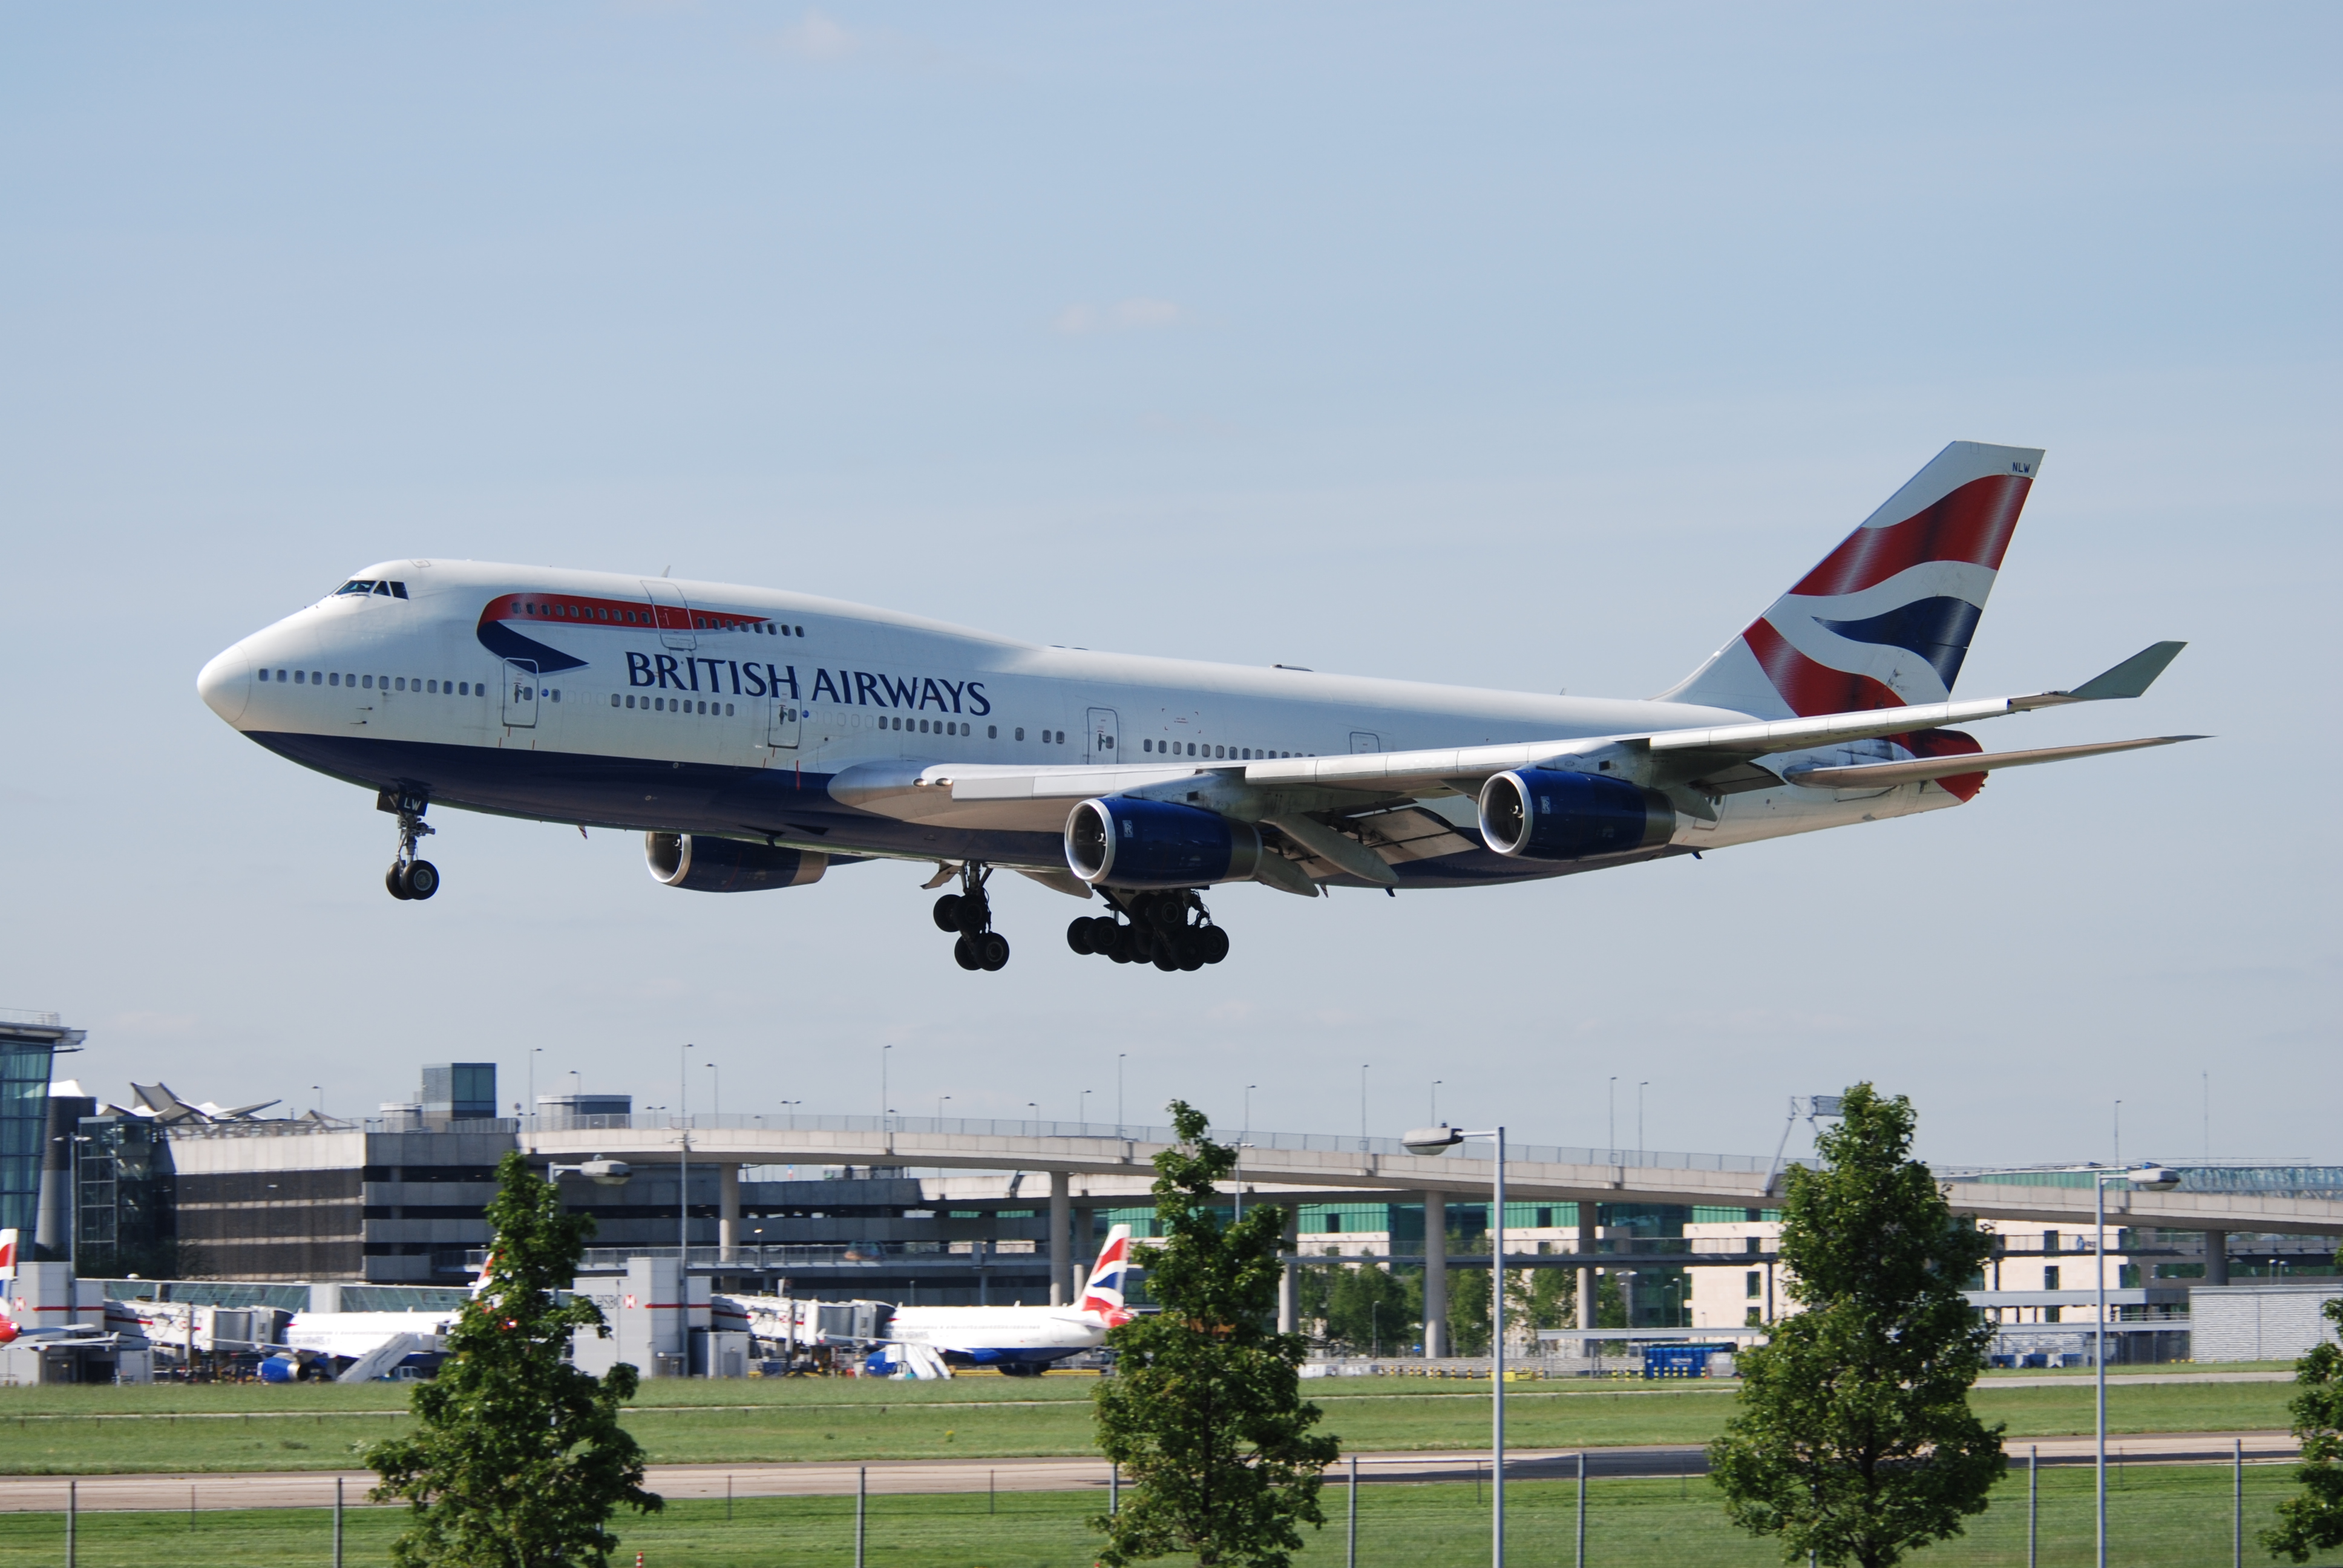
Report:
[[1992,1329],[1961,1298],[1987,1238],[1910,1158],[1912,1102],[1846,1090],[1823,1170],[1792,1165],[1781,1261],[1799,1313],[1739,1357],[1741,1409],[1708,1446],[1734,1523],[1783,1561],[1886,1568],[1961,1533],[2008,1460],[1968,1409]]

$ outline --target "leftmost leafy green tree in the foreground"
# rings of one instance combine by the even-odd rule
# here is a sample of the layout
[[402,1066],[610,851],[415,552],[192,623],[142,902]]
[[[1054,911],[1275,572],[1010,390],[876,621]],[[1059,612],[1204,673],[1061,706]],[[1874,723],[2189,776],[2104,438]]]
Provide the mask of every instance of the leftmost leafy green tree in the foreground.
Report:
[[602,1568],[619,1545],[609,1516],[663,1502],[642,1488],[642,1448],[619,1427],[635,1369],[593,1378],[565,1359],[572,1329],[609,1336],[590,1301],[558,1301],[593,1219],[565,1214],[555,1186],[513,1151],[487,1223],[487,1287],[448,1334],[438,1376],[415,1388],[415,1432],[366,1451],[382,1474],[368,1495],[408,1502],[391,1547],[401,1568]]

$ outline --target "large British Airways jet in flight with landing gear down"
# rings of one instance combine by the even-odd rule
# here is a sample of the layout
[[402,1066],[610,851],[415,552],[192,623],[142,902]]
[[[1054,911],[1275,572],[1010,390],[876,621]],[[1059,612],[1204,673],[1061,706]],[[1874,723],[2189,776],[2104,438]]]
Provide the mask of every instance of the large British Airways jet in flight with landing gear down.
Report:
[[1106,914],[1078,954],[1195,970],[1223,884],[1469,888],[1956,806],[1994,769],[2198,736],[1985,752],[1949,724],[2139,696],[2158,642],[2062,691],[1954,701],[2041,452],[1956,441],[1673,689],[1642,701],[1031,647],[783,588],[391,560],[244,638],[197,689],[398,818],[642,832],[651,877],[743,893],[935,865],[935,923],[1007,963],[986,884]]

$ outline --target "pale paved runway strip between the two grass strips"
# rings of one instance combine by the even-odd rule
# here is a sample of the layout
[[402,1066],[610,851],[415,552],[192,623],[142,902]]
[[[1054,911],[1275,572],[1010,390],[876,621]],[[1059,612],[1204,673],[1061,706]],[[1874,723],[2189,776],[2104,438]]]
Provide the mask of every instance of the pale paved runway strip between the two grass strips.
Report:
[[[2109,1458],[2127,1465],[2219,1465],[2245,1444],[2254,1465],[2284,1463],[2301,1453],[2291,1432],[2134,1432],[2109,1439]],[[2024,1465],[2038,1448],[2043,1465],[2088,1465],[2090,1437],[2045,1437],[2008,1444],[2010,1465]],[[1577,1477],[1579,1448],[1507,1453],[1514,1481],[1560,1481]],[[1586,1474],[1596,1479],[1706,1474],[1701,1446],[1586,1448]],[[663,1498],[851,1498],[855,1481],[872,1495],[982,1493],[982,1491],[1106,1491],[1108,1467],[1094,1458],[1026,1460],[881,1460],[872,1465],[651,1465],[649,1488]],[[1343,1484],[1350,1460],[1326,1472]],[[1471,1481],[1488,1474],[1488,1451],[1361,1453],[1361,1484]],[[370,1470],[342,1472],[218,1472],[218,1474],[96,1474],[96,1477],[0,1477],[0,1512],[56,1514],[66,1486],[84,1512],[187,1512],[246,1507],[333,1507],[333,1484],[342,1481],[349,1507],[373,1507],[366,1491]]]

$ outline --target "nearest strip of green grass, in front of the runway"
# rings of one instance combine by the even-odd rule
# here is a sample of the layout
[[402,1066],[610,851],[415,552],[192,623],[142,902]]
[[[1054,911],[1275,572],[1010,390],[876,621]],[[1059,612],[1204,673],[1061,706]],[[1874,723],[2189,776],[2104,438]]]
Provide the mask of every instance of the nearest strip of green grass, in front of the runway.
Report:
[[[2247,1561],[2270,1559],[2252,1533],[2289,1491],[2289,1467],[2247,1470]],[[1343,1563],[1345,1491],[1326,1488],[1324,1530],[1310,1533],[1303,1563]],[[1087,1568],[1097,1538],[1085,1519],[1099,1495],[874,1498],[865,1521],[872,1568]],[[1507,1488],[1509,1561],[1518,1568],[1574,1561],[1577,1493],[1567,1481],[1516,1481]],[[2226,1467],[2130,1467],[2109,1493],[2111,1561],[2125,1568],[2205,1568],[2231,1549],[2231,1472]],[[389,1561],[401,1530],[396,1509],[347,1514],[347,1563]],[[647,1568],[846,1568],[853,1563],[853,1498],[757,1498],[679,1502],[656,1516],[623,1516],[619,1563],[642,1552]],[[59,1514],[0,1514],[0,1568],[63,1563]],[[82,1514],[77,1561],[84,1568],[152,1568],[171,1561],[251,1568],[323,1566],[330,1561],[330,1514],[269,1509],[199,1514]],[[2092,1509],[2088,1470],[2045,1470],[2041,1479],[2041,1563],[2081,1568],[2090,1561]],[[1176,1559],[1167,1559],[1176,1561]],[[1488,1561],[1488,1500],[1474,1486],[1359,1488],[1359,1563],[1364,1568],[1467,1568]],[[1771,1568],[1781,1552],[1724,1523],[1713,1488],[1689,1481],[1596,1481],[1589,1486],[1586,1561],[1603,1568]],[[1914,1554],[1947,1568],[2020,1568],[2027,1561],[2027,1493],[2017,1474],[1994,1505],[1952,1542]],[[2343,1563],[2343,1554],[2313,1559]]]

